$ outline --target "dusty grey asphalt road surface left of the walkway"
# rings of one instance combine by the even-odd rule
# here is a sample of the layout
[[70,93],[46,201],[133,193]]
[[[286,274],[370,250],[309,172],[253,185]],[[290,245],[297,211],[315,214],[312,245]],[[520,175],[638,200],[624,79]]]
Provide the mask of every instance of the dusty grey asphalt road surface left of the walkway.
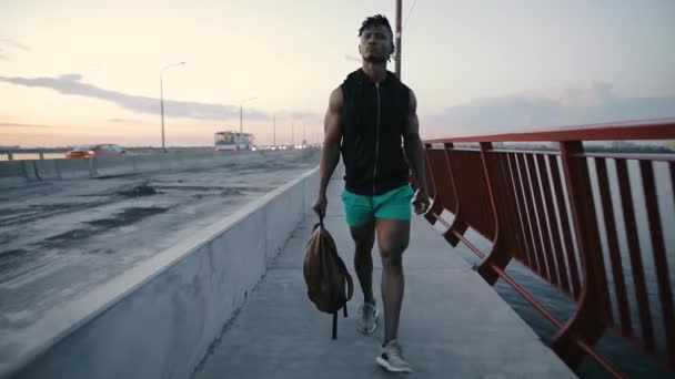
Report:
[[318,151],[260,153],[203,171],[3,188],[0,339],[318,164]]

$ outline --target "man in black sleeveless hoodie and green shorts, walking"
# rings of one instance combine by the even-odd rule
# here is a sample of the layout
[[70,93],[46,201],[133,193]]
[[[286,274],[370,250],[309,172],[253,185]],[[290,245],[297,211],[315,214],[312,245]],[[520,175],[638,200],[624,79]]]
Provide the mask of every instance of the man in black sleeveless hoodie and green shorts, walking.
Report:
[[[354,266],[364,298],[359,330],[373,332],[379,317],[373,297],[371,255],[376,233],[383,265],[384,305],[384,342],[376,362],[390,371],[412,371],[396,338],[404,288],[402,255],[410,238],[411,199],[414,196],[412,203],[417,214],[429,207],[417,104],[414,93],[386,70],[386,62],[394,52],[387,19],[380,14],[367,18],[359,29],[359,37],[362,68],[349,74],[329,100],[321,183],[313,208],[321,217],[325,215],[326,188],[342,152],[345,166],[342,199],[354,239]],[[414,195],[409,185],[410,170],[419,184]]]

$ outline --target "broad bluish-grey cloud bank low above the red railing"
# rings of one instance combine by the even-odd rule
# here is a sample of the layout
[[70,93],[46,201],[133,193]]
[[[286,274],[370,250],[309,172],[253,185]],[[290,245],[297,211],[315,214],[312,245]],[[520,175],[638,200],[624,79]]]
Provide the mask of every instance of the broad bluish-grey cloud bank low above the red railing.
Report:
[[675,94],[618,96],[611,83],[598,82],[550,93],[480,99],[449,107],[424,121],[434,134],[452,130],[460,135],[669,116],[675,116]]

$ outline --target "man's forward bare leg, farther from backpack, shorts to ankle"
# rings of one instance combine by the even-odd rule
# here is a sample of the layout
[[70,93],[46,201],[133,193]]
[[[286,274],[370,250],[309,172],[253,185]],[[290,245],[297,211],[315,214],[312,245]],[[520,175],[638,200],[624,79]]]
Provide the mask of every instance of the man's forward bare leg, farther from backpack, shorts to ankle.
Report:
[[382,257],[384,345],[396,339],[403,301],[403,252],[410,240],[410,221],[377,218],[377,245]]

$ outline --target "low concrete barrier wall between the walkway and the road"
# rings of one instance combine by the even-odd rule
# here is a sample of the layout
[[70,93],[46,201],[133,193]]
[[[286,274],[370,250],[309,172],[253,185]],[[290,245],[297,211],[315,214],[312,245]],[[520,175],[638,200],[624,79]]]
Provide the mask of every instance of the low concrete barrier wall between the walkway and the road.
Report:
[[0,342],[14,351],[0,377],[189,378],[318,185],[313,170]]

